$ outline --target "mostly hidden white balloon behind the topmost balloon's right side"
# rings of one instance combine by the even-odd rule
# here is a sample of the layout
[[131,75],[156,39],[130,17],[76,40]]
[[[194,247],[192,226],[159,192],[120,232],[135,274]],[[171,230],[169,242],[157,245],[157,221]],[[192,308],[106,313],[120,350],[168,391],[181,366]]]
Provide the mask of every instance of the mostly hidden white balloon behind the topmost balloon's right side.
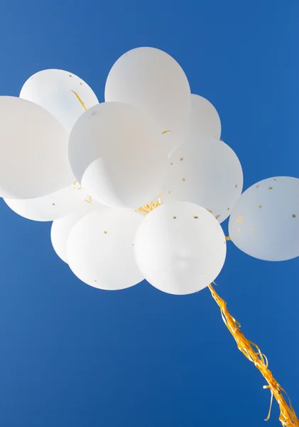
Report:
[[221,122],[214,105],[204,97],[193,94],[191,102],[191,113],[187,125],[188,137],[197,138],[199,141],[202,137],[219,139]]

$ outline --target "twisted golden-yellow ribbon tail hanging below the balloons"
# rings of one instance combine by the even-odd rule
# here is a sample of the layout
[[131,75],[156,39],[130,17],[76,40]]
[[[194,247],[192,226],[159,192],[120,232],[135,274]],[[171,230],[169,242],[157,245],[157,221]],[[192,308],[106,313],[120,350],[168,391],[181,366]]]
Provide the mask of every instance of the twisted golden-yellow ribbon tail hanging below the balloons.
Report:
[[[234,319],[234,317],[232,317],[232,315],[229,314],[229,310],[227,310],[227,303],[219,297],[212,285],[209,286],[209,289],[212,293],[212,297],[220,307],[222,319],[227,326],[227,329],[237,342],[238,349],[247,359],[250,360],[250,362],[254,363],[256,369],[259,369],[263,378],[268,382],[268,386],[263,386],[264,389],[270,389],[271,391],[271,404],[265,421],[268,421],[270,418],[274,396],[281,410],[279,421],[281,421],[283,427],[299,427],[299,420],[295,414],[292,404],[290,403],[290,399],[286,394],[286,391],[278,384],[276,379],[273,377],[272,372],[268,369],[268,360],[266,356],[261,353],[261,350],[256,344],[254,344],[254,342],[251,342],[244,337],[244,334],[240,331],[241,325]],[[287,404],[286,400],[283,398],[282,393],[286,394],[288,397],[289,404]]]

